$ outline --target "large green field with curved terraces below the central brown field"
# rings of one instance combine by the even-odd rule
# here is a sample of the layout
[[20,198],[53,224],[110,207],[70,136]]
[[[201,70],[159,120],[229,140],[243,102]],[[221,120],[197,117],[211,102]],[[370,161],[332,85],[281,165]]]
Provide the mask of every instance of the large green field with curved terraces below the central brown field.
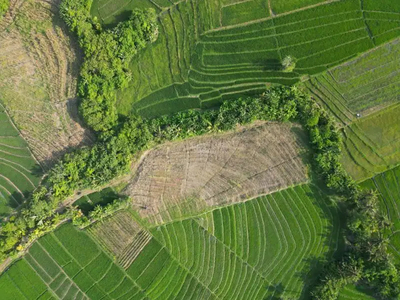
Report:
[[317,261],[338,249],[338,211],[325,201],[297,186],[153,233],[220,299],[274,299],[279,286],[281,297],[301,299]]

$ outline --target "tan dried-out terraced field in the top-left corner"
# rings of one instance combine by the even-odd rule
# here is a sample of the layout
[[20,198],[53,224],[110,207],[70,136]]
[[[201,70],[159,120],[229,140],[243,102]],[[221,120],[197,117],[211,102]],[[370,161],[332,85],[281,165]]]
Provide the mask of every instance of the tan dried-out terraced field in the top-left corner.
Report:
[[11,1],[0,22],[0,99],[44,169],[90,143],[80,124],[80,58],[58,17],[59,1]]

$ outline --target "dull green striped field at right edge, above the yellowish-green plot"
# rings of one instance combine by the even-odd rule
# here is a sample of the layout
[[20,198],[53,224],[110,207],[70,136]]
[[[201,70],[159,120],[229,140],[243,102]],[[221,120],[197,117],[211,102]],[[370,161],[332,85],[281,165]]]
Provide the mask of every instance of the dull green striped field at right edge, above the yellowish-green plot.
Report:
[[400,100],[399,57],[396,39],[313,77],[307,87],[345,126],[357,113],[366,116]]

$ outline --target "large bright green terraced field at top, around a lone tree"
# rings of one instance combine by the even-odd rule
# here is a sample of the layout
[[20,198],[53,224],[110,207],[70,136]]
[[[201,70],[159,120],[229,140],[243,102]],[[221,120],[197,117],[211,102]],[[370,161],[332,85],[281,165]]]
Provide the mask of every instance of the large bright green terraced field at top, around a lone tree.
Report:
[[[96,0],[92,13],[112,26],[135,7],[159,12],[159,39],[132,62],[118,103],[154,116],[306,80],[398,36],[398,4],[373,2]],[[297,59],[292,73],[280,70],[286,55]]]

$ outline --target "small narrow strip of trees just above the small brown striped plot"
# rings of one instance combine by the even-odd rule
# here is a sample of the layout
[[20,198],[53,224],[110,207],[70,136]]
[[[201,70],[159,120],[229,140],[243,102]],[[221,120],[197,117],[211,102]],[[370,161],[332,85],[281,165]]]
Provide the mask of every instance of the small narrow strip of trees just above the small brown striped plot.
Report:
[[79,207],[72,206],[69,209],[68,214],[72,219],[72,224],[78,226],[80,229],[83,229],[96,221],[103,220],[118,210],[128,208],[131,201],[132,200],[130,198],[126,197],[116,199],[105,206],[96,205],[95,208],[88,213],[88,215],[85,215],[82,210],[79,209]]

